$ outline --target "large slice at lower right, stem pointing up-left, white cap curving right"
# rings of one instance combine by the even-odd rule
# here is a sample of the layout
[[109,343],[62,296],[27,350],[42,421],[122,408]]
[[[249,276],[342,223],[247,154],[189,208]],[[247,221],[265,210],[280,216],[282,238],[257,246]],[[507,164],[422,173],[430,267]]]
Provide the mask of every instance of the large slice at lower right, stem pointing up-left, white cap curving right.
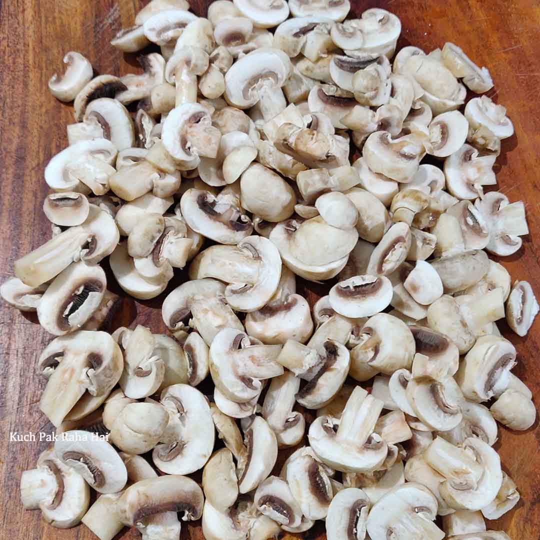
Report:
[[451,508],[481,510],[501,489],[501,460],[489,444],[478,438],[465,439],[458,448],[437,437],[424,457],[446,478],[440,484],[440,492]]

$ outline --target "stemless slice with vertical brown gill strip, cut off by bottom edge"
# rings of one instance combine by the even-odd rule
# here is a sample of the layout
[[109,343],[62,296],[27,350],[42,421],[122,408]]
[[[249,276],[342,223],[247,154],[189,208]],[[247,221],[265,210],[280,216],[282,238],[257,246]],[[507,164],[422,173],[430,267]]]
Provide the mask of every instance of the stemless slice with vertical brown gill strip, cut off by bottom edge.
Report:
[[328,540],[364,540],[370,500],[358,488],[346,488],[334,496],[328,515],[326,530]]

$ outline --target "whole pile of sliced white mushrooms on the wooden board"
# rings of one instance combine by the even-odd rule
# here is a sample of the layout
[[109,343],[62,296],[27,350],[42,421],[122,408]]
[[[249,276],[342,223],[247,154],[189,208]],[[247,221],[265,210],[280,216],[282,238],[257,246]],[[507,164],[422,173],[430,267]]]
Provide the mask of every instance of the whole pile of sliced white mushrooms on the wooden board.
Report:
[[[37,364],[57,440],[21,477],[53,527],[509,538],[484,522],[519,500],[497,421],[536,410],[496,323],[525,336],[538,304],[488,257],[521,247],[524,204],[483,188],[514,127],[485,95],[463,107],[493,83],[458,46],[396,54],[399,18],[349,8],[152,0],[112,41],[160,50],[143,73],[68,52],[51,78],[76,120],[45,168],[52,238],[1,293],[56,336]],[[186,268],[170,335],[99,330],[106,257],[137,299]],[[328,294],[311,307],[297,276]]]

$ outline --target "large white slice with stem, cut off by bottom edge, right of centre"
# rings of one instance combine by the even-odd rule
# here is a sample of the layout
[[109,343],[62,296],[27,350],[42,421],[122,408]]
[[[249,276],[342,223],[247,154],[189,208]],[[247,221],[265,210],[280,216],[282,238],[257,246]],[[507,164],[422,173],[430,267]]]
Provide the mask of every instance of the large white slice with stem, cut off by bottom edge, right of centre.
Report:
[[[367,519],[367,532],[372,540],[429,538],[441,540],[444,532],[433,520],[437,500],[431,491],[416,482],[398,485],[375,503]],[[390,536],[392,535],[392,536]]]

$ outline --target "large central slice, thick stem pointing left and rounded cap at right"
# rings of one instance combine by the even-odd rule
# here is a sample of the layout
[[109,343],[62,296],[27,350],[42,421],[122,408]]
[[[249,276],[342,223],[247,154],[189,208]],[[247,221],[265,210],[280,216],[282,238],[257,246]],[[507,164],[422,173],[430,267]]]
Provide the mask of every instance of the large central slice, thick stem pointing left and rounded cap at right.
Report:
[[215,278],[230,284],[225,299],[233,309],[244,312],[265,306],[278,288],[280,276],[278,248],[259,236],[246,237],[237,246],[208,247],[190,266],[193,280]]

